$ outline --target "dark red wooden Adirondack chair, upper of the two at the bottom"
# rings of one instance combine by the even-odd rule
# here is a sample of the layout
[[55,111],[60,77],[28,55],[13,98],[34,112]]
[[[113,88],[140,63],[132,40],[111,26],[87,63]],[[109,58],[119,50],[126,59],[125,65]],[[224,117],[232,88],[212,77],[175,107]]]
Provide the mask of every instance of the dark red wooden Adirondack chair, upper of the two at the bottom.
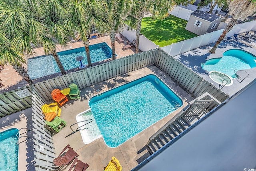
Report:
[[[66,149],[68,149],[68,151],[66,153],[64,153],[64,151],[66,151]],[[68,165],[70,165],[70,163],[72,163],[72,161],[78,157],[78,154],[69,146],[67,145],[60,153],[60,155],[58,155],[57,158],[53,159],[53,163],[59,167],[59,169],[61,169],[62,167],[68,167]]]

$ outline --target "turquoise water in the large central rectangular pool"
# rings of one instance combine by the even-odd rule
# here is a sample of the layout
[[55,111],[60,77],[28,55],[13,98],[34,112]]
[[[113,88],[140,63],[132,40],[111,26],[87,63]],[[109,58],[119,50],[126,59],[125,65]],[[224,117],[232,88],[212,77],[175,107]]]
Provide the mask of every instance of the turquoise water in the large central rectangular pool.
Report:
[[117,147],[182,106],[182,100],[155,79],[155,75],[147,75],[89,100],[109,147]]

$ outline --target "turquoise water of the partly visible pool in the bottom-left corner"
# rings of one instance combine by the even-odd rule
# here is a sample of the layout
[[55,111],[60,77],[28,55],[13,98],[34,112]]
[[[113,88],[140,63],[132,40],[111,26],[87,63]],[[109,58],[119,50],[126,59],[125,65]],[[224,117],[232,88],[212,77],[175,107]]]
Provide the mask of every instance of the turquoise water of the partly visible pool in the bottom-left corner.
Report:
[[18,170],[18,149],[16,144],[18,129],[11,128],[0,132],[0,170],[17,171]]

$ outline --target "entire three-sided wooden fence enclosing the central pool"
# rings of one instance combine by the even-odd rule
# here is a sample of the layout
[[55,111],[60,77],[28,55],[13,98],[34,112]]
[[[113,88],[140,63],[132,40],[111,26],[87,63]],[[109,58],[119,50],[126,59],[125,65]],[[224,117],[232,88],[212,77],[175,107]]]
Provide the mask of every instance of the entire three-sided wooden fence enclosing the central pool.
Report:
[[41,112],[41,106],[52,99],[53,89],[67,88],[70,83],[76,83],[80,89],[85,88],[151,64],[157,65],[194,96],[200,96],[208,91],[221,102],[228,98],[228,95],[160,48],[36,83],[32,86],[33,139],[30,139],[33,143],[34,155],[29,156],[34,160],[35,170],[56,169],[53,164],[53,159],[56,157],[54,143],[48,128],[45,127],[45,120]]

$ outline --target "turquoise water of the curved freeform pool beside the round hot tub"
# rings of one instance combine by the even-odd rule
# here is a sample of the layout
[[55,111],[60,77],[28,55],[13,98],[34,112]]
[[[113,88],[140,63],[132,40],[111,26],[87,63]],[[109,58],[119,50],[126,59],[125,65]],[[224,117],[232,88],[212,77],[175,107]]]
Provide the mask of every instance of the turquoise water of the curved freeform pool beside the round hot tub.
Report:
[[234,70],[244,70],[256,67],[256,56],[241,49],[230,49],[223,53],[222,58],[207,60],[202,68],[208,72],[218,71],[236,78]]

